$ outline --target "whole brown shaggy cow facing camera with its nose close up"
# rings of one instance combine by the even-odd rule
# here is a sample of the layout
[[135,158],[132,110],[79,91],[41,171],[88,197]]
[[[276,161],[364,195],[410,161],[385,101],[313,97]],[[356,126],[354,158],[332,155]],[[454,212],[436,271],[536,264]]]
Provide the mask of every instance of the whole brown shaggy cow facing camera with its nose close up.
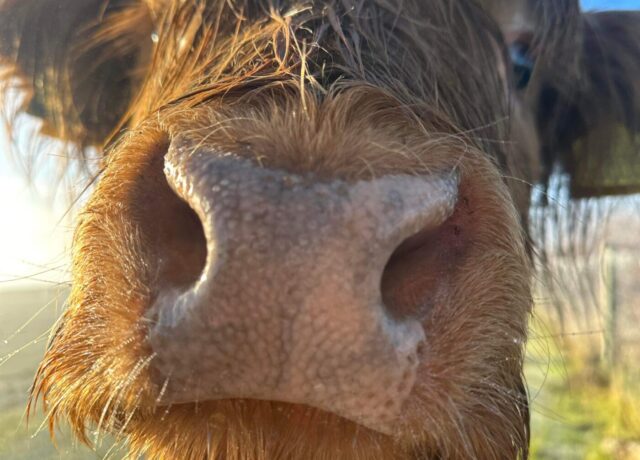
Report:
[[0,57],[102,154],[52,427],[131,458],[527,456],[531,187],[640,190],[637,13],[0,0]]

